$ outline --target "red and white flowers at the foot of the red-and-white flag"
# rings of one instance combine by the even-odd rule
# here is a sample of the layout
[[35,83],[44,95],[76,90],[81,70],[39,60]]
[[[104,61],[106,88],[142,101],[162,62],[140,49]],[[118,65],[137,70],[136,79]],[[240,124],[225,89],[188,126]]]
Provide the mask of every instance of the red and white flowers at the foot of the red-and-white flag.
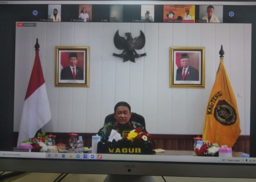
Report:
[[37,137],[23,141],[18,148],[31,149],[31,152],[45,152],[47,151],[46,143],[49,142],[49,138],[45,135],[45,132],[38,133]]

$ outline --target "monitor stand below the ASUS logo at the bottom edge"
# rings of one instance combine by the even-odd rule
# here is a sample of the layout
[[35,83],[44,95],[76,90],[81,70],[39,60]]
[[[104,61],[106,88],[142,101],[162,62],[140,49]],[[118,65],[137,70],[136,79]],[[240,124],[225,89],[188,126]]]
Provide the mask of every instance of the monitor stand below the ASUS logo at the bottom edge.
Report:
[[108,175],[103,182],[156,182],[152,176]]

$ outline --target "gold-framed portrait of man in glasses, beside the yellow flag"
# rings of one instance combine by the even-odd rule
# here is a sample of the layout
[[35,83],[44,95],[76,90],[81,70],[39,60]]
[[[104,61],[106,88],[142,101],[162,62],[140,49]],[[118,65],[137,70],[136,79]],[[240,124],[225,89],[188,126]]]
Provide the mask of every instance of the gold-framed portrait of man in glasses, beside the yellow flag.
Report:
[[204,47],[170,48],[170,87],[204,88]]

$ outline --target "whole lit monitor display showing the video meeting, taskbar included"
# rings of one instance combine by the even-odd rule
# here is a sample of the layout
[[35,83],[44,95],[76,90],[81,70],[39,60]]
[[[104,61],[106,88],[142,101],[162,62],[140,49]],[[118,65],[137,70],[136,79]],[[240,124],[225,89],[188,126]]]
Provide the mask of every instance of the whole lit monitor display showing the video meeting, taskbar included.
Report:
[[47,2],[0,2],[0,157],[256,163],[254,2]]

